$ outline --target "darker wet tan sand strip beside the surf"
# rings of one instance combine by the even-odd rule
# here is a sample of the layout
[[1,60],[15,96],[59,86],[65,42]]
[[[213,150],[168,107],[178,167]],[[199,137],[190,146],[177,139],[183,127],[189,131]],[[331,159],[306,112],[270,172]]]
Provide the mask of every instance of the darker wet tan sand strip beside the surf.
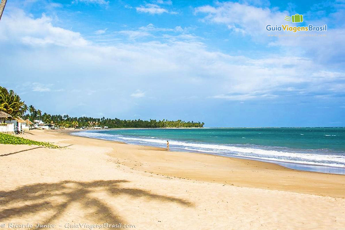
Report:
[[[173,162],[171,162],[167,170],[167,169],[161,169],[158,166],[156,168],[151,168],[151,169],[140,168],[140,167],[137,167],[134,163],[129,163],[126,160],[123,161],[123,163],[125,163],[126,166],[133,169],[140,170],[140,171],[144,171],[144,172],[151,172],[154,174],[160,174],[160,175],[164,175],[168,177],[185,178],[185,179],[190,179],[190,180],[200,180],[200,181],[205,181],[205,182],[212,182],[212,183],[216,182],[216,183],[223,183],[223,184],[227,184],[228,181],[231,181],[231,177],[227,175],[219,175],[219,172],[226,174],[231,171],[231,173],[235,173],[236,176],[239,176],[239,174],[247,173],[248,175],[239,176],[239,178],[235,179],[237,184],[235,183],[231,183],[231,184],[234,184],[235,186],[243,186],[243,187],[293,191],[293,192],[302,192],[302,193],[308,193],[308,194],[316,194],[316,195],[321,195],[321,196],[345,198],[345,194],[343,194],[343,192],[341,191],[341,190],[345,191],[345,175],[344,174],[302,171],[302,170],[290,169],[273,162],[264,162],[264,161],[257,161],[257,160],[252,160],[252,159],[242,159],[242,158],[235,158],[235,157],[220,156],[220,155],[204,153],[204,152],[166,151],[165,148],[162,148],[162,147],[127,144],[124,142],[118,142],[118,141],[112,141],[112,140],[103,140],[103,139],[98,139],[98,138],[75,136],[75,135],[71,135],[70,133],[71,132],[67,132],[66,134],[71,137],[77,137],[77,138],[82,138],[82,139],[87,138],[91,140],[102,141],[110,145],[111,143],[126,145],[130,147],[132,151],[152,150],[152,151],[159,151],[164,155],[170,154],[170,153],[176,153],[178,155],[174,155],[172,159],[174,159],[174,161],[176,162],[179,162],[180,159],[178,157],[182,155],[183,158],[188,159],[188,165],[190,164],[193,165],[194,162],[207,165],[207,163],[210,160],[213,163],[212,170],[210,170],[208,173],[201,172],[201,171],[197,171],[196,173],[193,173],[190,171],[190,168],[193,168],[193,167],[186,167],[188,173],[179,173],[181,169],[179,169],[178,166],[172,166],[171,164],[173,164]],[[121,147],[119,146],[119,148]],[[118,157],[115,154],[109,154],[109,155],[112,157]],[[164,162],[165,159],[159,159],[157,161],[154,161],[155,158],[152,158],[148,156],[147,154],[145,154],[144,156],[141,156],[140,154],[140,156],[135,156],[135,157],[137,157],[136,159],[138,161],[143,160],[143,157],[145,157],[145,160],[148,161],[147,163],[155,163],[155,164],[165,163]],[[230,167],[231,167],[231,164],[235,164],[236,172],[234,170],[228,169],[227,164],[229,164]],[[217,170],[217,167],[221,167],[222,169]],[[200,170],[200,167],[197,167],[197,169],[193,168],[193,170]],[[257,171],[257,173],[254,173],[255,171]],[[265,184],[265,181],[273,180],[273,178],[277,180],[282,180],[282,178],[277,178],[276,176],[272,177],[271,173],[280,173],[280,176],[283,177],[284,180],[288,181],[289,183],[279,184],[279,183],[276,183],[275,181],[270,181],[269,183]],[[312,188],[311,183],[308,183],[308,180],[311,179],[311,177],[315,180],[315,183],[312,183],[312,184],[316,184],[316,181],[319,181],[320,178],[322,178],[321,181],[324,181],[326,184],[328,184],[327,180],[329,180],[330,178],[332,177],[336,178],[337,185],[335,186],[336,188],[334,188],[336,191],[329,191],[329,189],[332,189],[332,187],[322,187],[321,191],[315,187]],[[259,178],[259,181],[254,181],[252,180],[252,178],[253,179]],[[303,183],[307,183],[307,184],[305,185],[299,184],[300,181],[295,183],[293,178],[303,181]],[[338,187],[338,185],[340,187]]]

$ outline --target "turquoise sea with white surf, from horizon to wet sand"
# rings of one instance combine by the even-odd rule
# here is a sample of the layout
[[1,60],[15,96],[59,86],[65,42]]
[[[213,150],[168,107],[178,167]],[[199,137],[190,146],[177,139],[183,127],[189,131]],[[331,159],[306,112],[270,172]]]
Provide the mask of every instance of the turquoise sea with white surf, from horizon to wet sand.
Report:
[[[117,129],[73,133],[178,151],[205,152],[345,174],[345,128]],[[192,154],[192,153],[191,153]]]

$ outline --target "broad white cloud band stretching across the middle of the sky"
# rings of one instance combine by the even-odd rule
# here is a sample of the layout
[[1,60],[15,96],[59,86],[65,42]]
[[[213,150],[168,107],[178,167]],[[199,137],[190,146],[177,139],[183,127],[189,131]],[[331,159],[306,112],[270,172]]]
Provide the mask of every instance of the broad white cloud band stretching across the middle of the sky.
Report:
[[[34,82],[41,82],[48,76],[70,82],[70,87],[73,87],[71,81],[75,81],[78,87],[89,88],[80,91],[80,97],[97,98],[95,90],[101,89],[123,102],[120,99],[126,100],[128,90],[133,88],[150,88],[150,94],[159,100],[190,95],[200,99],[211,97],[239,101],[269,100],[281,96],[314,97],[319,94],[333,97],[344,91],[345,80],[341,71],[296,54],[264,58],[231,56],[210,50],[198,37],[190,34],[169,35],[164,37],[168,38],[164,42],[128,43],[124,39],[124,42],[100,45],[87,41],[77,32],[53,26],[46,16],[34,19],[17,11],[11,16],[3,16],[2,20],[0,46],[4,51],[0,58],[4,76],[14,71],[18,76],[29,72],[34,73],[30,75]],[[151,36],[149,31],[157,29],[151,24],[145,28],[147,30],[116,34],[134,39]],[[49,38],[52,42],[50,46],[38,45],[37,42],[23,40],[23,37]],[[22,44],[26,47],[22,48]],[[97,82],[93,83],[95,77]],[[56,82],[54,86],[64,88],[66,84]],[[32,86],[33,90],[40,92],[53,91],[51,87],[38,83]],[[106,91],[105,88],[114,89]],[[71,90],[66,89],[66,94],[73,93]],[[145,94],[137,90],[130,96],[145,97]]]

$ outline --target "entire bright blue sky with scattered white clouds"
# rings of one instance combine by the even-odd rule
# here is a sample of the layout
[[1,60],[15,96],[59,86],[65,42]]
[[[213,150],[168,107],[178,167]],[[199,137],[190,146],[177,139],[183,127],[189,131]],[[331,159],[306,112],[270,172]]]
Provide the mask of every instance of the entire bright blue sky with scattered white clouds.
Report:
[[51,114],[345,126],[344,19],[344,1],[8,0],[0,85]]

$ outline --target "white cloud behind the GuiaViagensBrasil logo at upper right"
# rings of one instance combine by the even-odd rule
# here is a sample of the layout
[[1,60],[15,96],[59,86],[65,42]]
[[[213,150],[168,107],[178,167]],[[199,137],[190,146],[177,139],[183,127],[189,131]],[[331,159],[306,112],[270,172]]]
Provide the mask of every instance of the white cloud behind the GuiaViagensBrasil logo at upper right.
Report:
[[[326,32],[318,32],[318,34],[325,34],[325,37],[267,37],[268,34],[291,34],[286,31],[268,32],[266,30],[267,25],[296,25],[283,20],[285,15],[290,15],[290,12],[279,11],[278,8],[269,8],[266,4],[265,6],[253,6],[239,2],[216,2],[214,6],[206,5],[195,8],[195,13],[203,15],[201,20],[206,23],[224,24],[231,32],[250,36],[255,42],[267,44],[271,47],[282,47],[286,49],[287,54],[297,53],[301,56],[310,57],[319,63],[337,63],[336,66],[341,67],[345,64],[345,60],[342,58],[345,55],[345,50],[338,47],[342,46],[343,37],[345,36],[345,11],[340,6],[341,4],[331,2],[327,2],[327,4],[328,6],[332,5],[335,12],[324,15],[325,11],[323,11],[323,14],[317,19],[315,19],[317,12],[308,11],[306,14],[303,13],[305,18],[308,18],[308,24],[315,26],[328,24]],[[289,4],[289,8],[291,6]],[[334,26],[329,27],[329,24]],[[304,33],[297,32],[293,35],[303,35]],[[309,32],[308,34],[313,33]]]

